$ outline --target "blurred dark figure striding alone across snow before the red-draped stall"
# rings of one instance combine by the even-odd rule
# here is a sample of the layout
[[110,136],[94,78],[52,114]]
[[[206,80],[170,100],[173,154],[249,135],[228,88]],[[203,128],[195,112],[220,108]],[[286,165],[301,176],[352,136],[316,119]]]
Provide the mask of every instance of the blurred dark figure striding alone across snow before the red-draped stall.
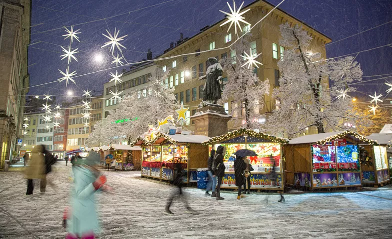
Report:
[[181,189],[183,184],[182,177],[186,175],[186,172],[184,172],[184,170],[181,167],[181,164],[179,163],[176,163],[174,165],[173,171],[174,171],[173,185],[175,186],[175,188],[172,190],[170,196],[167,199],[164,213],[168,215],[173,215],[173,213],[170,211],[170,206],[171,203],[173,202],[174,197],[178,197],[182,200],[187,213],[193,213],[192,208],[190,208],[186,202],[186,196],[184,195],[184,191]]

